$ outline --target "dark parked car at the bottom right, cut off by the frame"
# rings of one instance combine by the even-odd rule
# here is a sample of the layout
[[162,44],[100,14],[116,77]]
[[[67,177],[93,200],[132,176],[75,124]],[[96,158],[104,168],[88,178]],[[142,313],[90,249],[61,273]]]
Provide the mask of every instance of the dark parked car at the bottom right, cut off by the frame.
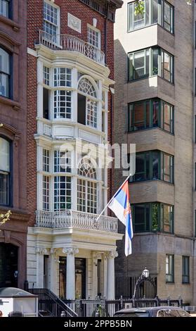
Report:
[[114,317],[191,317],[187,311],[174,306],[129,308],[116,311]]

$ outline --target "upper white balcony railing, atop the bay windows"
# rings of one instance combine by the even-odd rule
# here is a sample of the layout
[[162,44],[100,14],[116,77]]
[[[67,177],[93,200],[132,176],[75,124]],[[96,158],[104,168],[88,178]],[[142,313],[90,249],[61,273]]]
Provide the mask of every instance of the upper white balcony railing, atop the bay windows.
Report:
[[105,65],[105,54],[103,51],[72,35],[50,35],[40,30],[39,44],[54,51],[76,51],[97,63]]

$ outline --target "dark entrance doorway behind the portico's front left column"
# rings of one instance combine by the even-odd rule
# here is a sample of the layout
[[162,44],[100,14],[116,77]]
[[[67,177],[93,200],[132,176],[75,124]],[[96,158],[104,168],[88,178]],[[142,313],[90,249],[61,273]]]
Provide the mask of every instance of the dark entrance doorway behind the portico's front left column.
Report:
[[[66,299],[67,258],[59,257],[59,296]],[[86,258],[75,258],[75,297],[86,299]]]

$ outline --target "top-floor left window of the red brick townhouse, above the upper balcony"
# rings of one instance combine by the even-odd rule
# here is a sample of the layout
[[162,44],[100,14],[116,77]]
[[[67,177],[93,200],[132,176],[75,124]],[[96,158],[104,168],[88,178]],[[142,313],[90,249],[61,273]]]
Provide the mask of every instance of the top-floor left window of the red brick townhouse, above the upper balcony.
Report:
[[44,1],[44,32],[55,37],[59,33],[60,8]]

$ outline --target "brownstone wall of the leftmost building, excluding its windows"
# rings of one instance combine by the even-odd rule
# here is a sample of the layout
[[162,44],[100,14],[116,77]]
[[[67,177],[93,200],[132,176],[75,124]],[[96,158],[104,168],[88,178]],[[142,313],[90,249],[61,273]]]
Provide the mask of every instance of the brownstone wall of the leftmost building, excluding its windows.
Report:
[[[0,213],[11,209],[11,219],[1,226],[0,243],[18,247],[18,287],[24,287],[27,255],[27,1],[13,1],[12,18],[0,15],[0,45],[10,54],[11,77],[9,98],[0,96],[0,137],[10,142],[12,198]],[[0,256],[1,258],[1,256]],[[4,261],[3,261],[4,262]],[[6,265],[6,284],[14,277]],[[1,270],[2,271],[2,270]],[[4,275],[3,275],[4,278]],[[8,279],[9,278],[9,279]],[[2,281],[2,277],[1,277]]]

